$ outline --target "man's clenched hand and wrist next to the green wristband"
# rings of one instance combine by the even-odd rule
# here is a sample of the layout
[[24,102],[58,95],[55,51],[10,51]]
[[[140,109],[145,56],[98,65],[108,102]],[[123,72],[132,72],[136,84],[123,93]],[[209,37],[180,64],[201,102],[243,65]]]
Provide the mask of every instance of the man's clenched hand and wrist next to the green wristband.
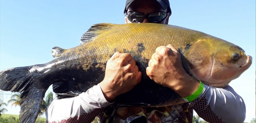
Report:
[[180,53],[171,44],[156,48],[146,72],[157,84],[173,89],[182,97],[194,93],[200,84],[185,72]]

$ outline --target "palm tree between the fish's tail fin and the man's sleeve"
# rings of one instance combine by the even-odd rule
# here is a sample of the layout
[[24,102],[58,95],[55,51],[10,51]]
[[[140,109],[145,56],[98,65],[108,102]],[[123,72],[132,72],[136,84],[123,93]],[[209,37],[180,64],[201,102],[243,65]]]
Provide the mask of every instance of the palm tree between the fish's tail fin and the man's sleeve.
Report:
[[43,115],[43,114],[46,115],[47,107],[49,106],[49,104],[51,103],[51,101],[53,99],[53,93],[49,92],[47,94],[47,96],[44,97],[44,98],[45,98],[45,100],[43,100],[43,102],[42,102],[42,105],[41,105],[41,108],[40,108],[40,111],[39,111],[38,115]]

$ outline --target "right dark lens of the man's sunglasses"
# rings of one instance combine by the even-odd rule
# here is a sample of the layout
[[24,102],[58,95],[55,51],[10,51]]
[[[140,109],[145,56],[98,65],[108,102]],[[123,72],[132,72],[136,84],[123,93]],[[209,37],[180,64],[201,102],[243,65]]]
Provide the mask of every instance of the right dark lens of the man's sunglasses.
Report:
[[167,14],[165,12],[156,12],[156,13],[150,14],[147,17],[147,19],[151,23],[159,23],[159,22],[163,21],[166,18],[166,16],[167,16]]

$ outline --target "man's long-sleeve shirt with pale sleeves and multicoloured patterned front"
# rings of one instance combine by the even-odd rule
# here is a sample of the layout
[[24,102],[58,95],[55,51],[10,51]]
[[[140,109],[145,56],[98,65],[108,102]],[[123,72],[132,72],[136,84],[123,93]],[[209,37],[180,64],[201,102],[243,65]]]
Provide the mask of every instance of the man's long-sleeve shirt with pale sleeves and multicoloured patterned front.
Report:
[[134,119],[153,123],[192,123],[193,109],[210,123],[243,123],[245,103],[229,85],[223,89],[204,85],[196,100],[165,107],[122,107],[107,102],[100,85],[77,97],[57,99],[49,105],[47,123],[90,123],[98,116],[101,122],[129,123]]

